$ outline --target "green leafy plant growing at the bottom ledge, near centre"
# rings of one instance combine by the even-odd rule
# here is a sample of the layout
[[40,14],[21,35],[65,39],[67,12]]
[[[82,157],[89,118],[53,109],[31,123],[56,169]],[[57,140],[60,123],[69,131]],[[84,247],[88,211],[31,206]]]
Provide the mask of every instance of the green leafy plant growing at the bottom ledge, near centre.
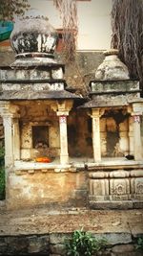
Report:
[[91,233],[75,230],[72,238],[65,242],[66,252],[69,256],[92,256],[96,252],[105,249],[105,239],[96,240]]

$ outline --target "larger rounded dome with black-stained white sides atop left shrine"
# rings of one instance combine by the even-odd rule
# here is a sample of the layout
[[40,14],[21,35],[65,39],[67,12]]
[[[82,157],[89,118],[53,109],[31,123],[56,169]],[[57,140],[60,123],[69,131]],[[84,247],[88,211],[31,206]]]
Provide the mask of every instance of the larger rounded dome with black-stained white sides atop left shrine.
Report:
[[15,20],[10,43],[16,54],[43,53],[52,56],[57,43],[57,33],[47,17],[31,10]]

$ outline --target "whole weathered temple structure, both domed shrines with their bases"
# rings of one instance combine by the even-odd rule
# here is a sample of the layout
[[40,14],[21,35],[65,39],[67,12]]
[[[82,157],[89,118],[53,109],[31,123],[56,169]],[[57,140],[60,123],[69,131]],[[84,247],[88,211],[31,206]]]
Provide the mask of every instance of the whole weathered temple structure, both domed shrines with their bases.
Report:
[[117,51],[87,101],[64,80],[46,17],[23,17],[10,40],[15,61],[0,67],[8,208],[143,207],[143,99]]

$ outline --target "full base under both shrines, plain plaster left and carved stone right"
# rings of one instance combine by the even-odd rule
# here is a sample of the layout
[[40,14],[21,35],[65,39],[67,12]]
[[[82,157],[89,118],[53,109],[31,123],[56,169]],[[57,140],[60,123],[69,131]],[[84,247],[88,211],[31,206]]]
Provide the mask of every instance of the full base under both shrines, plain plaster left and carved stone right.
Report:
[[[128,160],[127,160],[128,161]],[[126,161],[125,161],[126,162]],[[58,165],[9,171],[7,207],[22,209],[46,206],[47,209],[86,207],[87,209],[135,209],[143,207],[143,167],[103,166],[93,163],[62,169]],[[112,164],[112,163],[111,163]],[[29,165],[29,164],[28,164]],[[92,167],[94,165],[94,167]],[[83,167],[84,166],[84,167]],[[22,170],[23,168],[23,170]],[[26,168],[26,166],[25,166]],[[91,170],[92,169],[92,170]]]

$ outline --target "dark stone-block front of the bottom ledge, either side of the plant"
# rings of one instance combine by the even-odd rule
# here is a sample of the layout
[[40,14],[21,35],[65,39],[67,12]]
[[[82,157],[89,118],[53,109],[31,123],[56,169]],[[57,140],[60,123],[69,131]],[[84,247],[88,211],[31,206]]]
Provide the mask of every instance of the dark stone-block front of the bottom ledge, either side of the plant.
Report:
[[[110,237],[106,234],[95,235],[95,238],[110,238],[108,248],[97,253],[100,256],[142,256],[142,251],[135,249],[134,238],[127,242],[127,234],[123,234],[120,244],[116,241],[116,236],[112,233]],[[65,239],[69,239],[71,233],[51,233],[39,235],[21,235],[0,237],[0,255],[2,256],[66,256]]]

